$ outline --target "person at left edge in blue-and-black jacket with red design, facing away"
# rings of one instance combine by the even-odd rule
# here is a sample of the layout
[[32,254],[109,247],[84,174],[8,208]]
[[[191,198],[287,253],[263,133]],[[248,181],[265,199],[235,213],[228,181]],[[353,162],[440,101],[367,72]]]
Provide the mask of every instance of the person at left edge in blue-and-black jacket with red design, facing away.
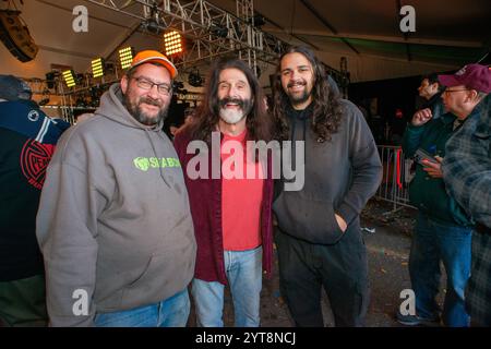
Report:
[[43,256],[35,228],[46,168],[61,133],[31,100],[31,88],[0,75],[0,325],[48,324]]

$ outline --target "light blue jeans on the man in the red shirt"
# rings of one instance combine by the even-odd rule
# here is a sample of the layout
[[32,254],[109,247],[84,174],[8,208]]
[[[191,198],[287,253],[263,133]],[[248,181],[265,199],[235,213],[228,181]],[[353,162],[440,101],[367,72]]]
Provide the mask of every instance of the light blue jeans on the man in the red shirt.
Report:
[[[237,327],[259,327],[263,282],[262,246],[248,251],[225,251],[225,270],[233,300]],[[223,327],[225,286],[218,281],[193,280],[197,325]]]

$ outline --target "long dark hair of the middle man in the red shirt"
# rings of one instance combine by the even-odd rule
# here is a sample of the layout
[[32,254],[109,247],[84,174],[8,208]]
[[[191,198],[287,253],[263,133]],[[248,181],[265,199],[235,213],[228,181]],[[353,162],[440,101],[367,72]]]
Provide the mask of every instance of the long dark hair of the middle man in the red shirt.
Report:
[[238,59],[219,60],[215,62],[206,79],[204,100],[195,112],[193,121],[184,129],[192,140],[212,142],[212,132],[217,131],[219,122],[218,83],[221,71],[225,69],[238,69],[247,77],[251,87],[252,108],[247,116],[246,127],[248,141],[270,142],[273,137],[273,120],[267,115],[264,94],[252,70],[246,62]]

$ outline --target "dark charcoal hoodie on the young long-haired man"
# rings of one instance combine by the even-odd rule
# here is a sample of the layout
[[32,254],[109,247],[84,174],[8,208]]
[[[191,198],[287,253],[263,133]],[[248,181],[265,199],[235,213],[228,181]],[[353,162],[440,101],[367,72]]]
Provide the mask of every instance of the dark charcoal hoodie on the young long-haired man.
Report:
[[[334,214],[348,229],[360,229],[359,215],[376,192],[382,164],[372,133],[360,110],[342,99],[338,131],[318,142],[311,129],[312,107],[289,110],[291,136],[306,142],[306,182],[300,191],[283,191],[273,209],[279,228],[312,243],[333,244],[344,236]],[[295,163],[294,163],[295,164]]]

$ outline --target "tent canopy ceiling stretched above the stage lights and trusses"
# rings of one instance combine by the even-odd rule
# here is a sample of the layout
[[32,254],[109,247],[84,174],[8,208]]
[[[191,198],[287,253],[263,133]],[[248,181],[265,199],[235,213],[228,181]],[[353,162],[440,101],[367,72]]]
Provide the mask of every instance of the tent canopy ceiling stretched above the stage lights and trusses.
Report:
[[[88,72],[93,58],[116,60],[115,52],[123,46],[161,48],[161,38],[139,29],[141,20],[96,2],[119,2],[134,13],[142,11],[131,0],[28,0],[23,5],[11,0],[22,11],[39,52],[35,60],[22,63],[0,45],[0,73],[44,79],[51,64]],[[172,0],[155,1],[157,7],[166,2]],[[208,2],[236,13],[235,0]],[[72,11],[80,4],[88,10],[87,33],[72,29]],[[404,4],[416,10],[415,33],[400,32],[398,7]],[[456,69],[489,51],[489,0],[255,0],[254,11],[265,19],[262,31],[289,44],[310,45],[326,64],[339,70],[345,57],[351,82]],[[267,75],[261,76],[263,85],[268,85]]]

